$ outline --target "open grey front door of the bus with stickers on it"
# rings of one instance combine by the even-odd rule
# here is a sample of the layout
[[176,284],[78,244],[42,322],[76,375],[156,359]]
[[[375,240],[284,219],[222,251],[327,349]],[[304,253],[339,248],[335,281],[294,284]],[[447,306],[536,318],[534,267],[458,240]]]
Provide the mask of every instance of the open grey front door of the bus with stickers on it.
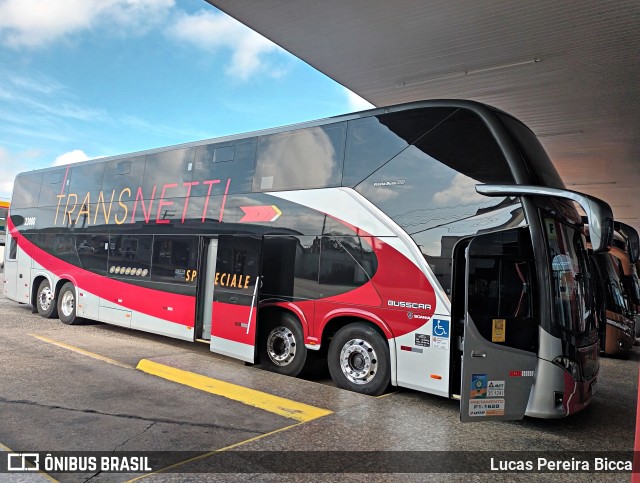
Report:
[[524,417],[538,349],[532,252],[526,228],[476,236],[465,250],[462,421]]

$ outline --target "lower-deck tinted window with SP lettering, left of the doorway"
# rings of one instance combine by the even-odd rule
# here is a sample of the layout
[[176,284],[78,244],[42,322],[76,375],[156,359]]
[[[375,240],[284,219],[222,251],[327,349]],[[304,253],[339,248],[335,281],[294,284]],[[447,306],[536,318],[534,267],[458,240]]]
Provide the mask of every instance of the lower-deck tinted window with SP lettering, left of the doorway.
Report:
[[154,237],[151,280],[195,285],[197,265],[197,237]]

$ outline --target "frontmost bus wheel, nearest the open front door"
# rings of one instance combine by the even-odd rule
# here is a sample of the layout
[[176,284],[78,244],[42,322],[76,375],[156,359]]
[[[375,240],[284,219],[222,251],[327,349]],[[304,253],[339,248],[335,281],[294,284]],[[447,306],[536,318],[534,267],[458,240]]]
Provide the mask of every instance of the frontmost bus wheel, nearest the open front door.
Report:
[[391,380],[389,345],[367,324],[340,329],[329,345],[328,363],[331,379],[342,389],[379,396]]

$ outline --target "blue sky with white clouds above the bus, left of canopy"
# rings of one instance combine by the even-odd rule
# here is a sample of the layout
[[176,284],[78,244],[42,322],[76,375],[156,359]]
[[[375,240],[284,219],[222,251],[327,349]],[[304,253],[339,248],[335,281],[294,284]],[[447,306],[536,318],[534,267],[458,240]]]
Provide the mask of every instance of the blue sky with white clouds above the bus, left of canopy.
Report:
[[0,199],[22,171],[370,107],[204,0],[0,0]]

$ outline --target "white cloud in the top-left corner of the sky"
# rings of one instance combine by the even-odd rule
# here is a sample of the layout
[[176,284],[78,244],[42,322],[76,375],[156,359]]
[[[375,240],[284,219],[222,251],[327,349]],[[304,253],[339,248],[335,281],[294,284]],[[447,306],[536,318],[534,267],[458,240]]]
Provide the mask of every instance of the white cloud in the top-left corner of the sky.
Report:
[[98,26],[144,33],[162,21],[174,0],[0,0],[0,40],[42,47]]

